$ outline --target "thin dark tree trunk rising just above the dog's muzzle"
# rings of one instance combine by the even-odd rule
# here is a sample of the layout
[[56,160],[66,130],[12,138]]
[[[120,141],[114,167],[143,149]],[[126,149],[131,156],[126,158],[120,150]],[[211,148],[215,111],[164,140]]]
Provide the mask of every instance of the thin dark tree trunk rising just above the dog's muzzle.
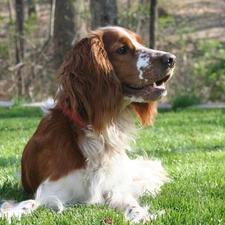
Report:
[[157,34],[157,22],[158,22],[158,0],[150,1],[150,48],[155,48],[155,39]]

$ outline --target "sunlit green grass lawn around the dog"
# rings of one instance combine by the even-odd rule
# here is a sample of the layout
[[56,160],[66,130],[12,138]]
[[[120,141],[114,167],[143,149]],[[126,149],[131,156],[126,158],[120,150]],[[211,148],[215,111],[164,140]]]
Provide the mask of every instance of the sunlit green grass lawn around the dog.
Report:
[[[42,117],[39,108],[0,108],[0,200],[30,198],[20,188],[23,148]],[[225,109],[161,111],[153,127],[144,128],[137,138],[137,154],[143,150],[160,158],[172,177],[156,198],[142,197],[150,212],[165,210],[151,224],[225,224]],[[129,224],[121,212],[106,206],[72,206],[62,214],[39,208],[24,216],[21,224],[40,225]],[[7,224],[0,219],[0,224]],[[14,220],[12,224],[20,224]]]

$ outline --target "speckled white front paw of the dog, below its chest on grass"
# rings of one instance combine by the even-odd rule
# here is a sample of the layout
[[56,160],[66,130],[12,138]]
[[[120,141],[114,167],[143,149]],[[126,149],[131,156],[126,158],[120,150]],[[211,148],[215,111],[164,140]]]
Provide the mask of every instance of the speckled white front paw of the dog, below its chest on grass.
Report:
[[127,208],[126,217],[131,223],[151,222],[156,219],[156,215],[149,215],[147,209],[140,206],[130,206]]

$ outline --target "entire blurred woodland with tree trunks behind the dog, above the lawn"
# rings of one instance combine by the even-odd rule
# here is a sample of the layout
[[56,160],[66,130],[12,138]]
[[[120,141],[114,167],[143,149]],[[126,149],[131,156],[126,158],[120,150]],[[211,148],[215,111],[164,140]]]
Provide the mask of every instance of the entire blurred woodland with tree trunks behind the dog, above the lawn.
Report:
[[104,25],[177,56],[164,101],[225,101],[225,0],[0,0],[0,10],[0,101],[54,96],[66,53]]

